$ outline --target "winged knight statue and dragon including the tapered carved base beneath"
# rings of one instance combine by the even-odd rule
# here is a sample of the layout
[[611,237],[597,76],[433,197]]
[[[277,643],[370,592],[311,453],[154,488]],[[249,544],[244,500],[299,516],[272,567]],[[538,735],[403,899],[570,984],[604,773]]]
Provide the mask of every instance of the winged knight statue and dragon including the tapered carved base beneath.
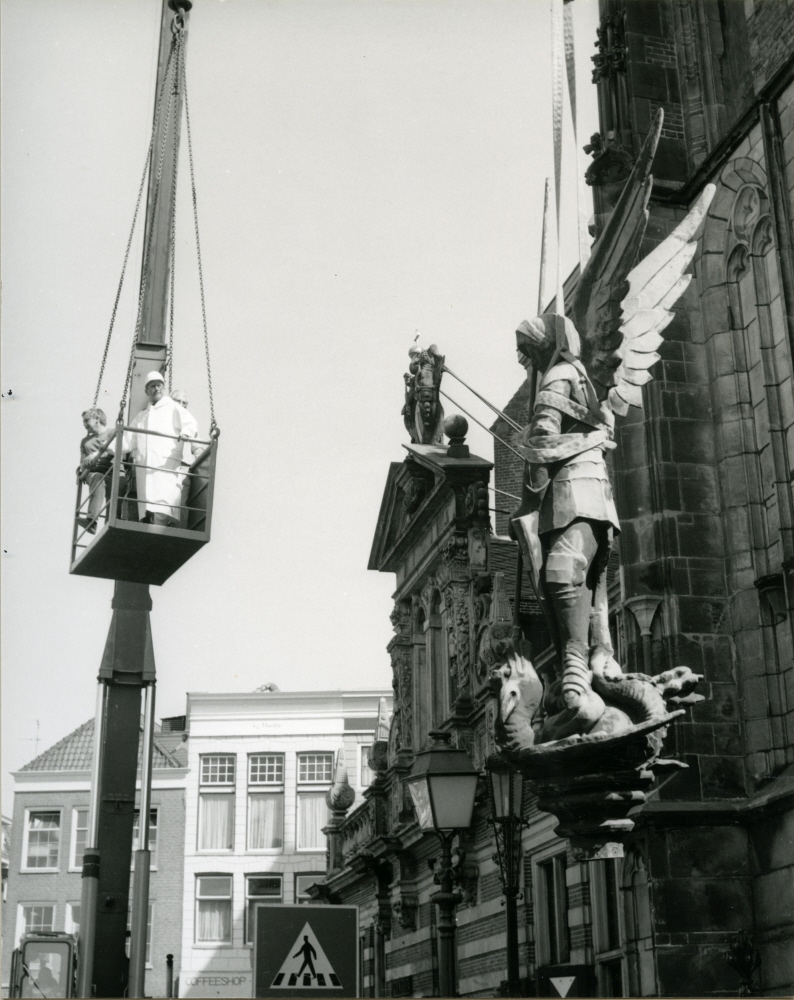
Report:
[[558,834],[593,851],[632,828],[628,814],[662,766],[667,727],[683,714],[682,703],[702,700],[694,694],[701,678],[689,667],[624,673],[608,620],[607,566],[619,522],[605,453],[614,448],[615,417],[642,405],[715,190],[707,185],[677,229],[637,263],[662,122],[659,112],[579,278],[570,318],[545,314],[517,331],[519,355],[555,386],[538,393],[516,438],[526,485],[511,521],[552,634],[565,637],[554,678],[544,684],[527,644],[506,634],[505,611],[479,648],[495,661],[497,743],[533,782],[541,808],[557,817]]

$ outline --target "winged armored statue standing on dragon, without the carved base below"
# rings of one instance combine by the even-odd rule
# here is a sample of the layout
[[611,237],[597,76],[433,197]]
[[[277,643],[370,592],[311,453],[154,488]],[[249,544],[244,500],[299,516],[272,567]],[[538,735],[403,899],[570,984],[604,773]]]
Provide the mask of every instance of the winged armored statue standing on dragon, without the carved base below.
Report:
[[686,667],[655,678],[624,674],[608,627],[607,562],[620,531],[606,464],[614,419],[642,405],[714,194],[708,185],[677,229],[635,263],[660,131],[661,112],[582,273],[570,318],[545,314],[516,332],[519,361],[540,373],[540,384],[516,442],[525,472],[510,531],[547,609],[558,665],[544,690],[516,637],[496,668],[497,739],[506,749],[601,741],[699,700],[691,694],[698,678]]

